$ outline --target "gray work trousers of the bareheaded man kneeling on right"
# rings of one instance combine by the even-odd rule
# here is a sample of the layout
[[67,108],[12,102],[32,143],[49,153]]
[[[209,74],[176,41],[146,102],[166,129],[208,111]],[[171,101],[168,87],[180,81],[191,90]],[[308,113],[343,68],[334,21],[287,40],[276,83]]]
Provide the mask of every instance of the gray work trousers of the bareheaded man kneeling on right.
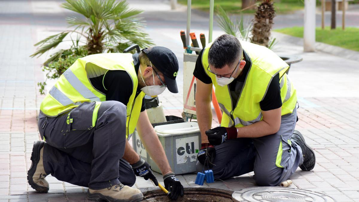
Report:
[[[259,138],[231,139],[215,146],[212,168],[215,179],[228,179],[254,171],[257,185],[277,186],[303,163],[302,149],[291,140],[297,110],[282,116],[277,133]],[[197,161],[196,171],[208,167]]]

